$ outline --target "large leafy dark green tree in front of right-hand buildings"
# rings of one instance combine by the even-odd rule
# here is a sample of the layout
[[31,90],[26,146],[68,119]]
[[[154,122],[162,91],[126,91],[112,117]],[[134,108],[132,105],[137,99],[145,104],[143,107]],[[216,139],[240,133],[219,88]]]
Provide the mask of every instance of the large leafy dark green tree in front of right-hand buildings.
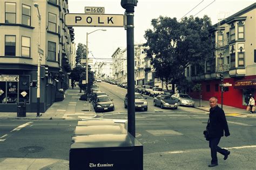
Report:
[[213,52],[211,20],[203,18],[184,18],[180,23],[176,18],[160,16],[152,19],[153,29],[145,31],[147,57],[156,72],[156,77],[167,85],[181,86],[185,83],[185,68],[190,64],[204,64]]

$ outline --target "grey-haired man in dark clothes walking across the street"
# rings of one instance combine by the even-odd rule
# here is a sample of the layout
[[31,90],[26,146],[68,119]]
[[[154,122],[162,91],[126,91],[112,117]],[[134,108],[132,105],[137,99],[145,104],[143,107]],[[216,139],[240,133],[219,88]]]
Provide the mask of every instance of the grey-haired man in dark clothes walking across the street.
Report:
[[209,167],[218,165],[217,152],[224,155],[224,160],[227,159],[230,151],[220,148],[218,146],[220,138],[223,137],[225,131],[225,137],[230,135],[228,130],[227,120],[224,111],[217,105],[218,99],[215,97],[210,98],[210,115],[207,129],[209,133],[209,147],[211,148],[211,164]]

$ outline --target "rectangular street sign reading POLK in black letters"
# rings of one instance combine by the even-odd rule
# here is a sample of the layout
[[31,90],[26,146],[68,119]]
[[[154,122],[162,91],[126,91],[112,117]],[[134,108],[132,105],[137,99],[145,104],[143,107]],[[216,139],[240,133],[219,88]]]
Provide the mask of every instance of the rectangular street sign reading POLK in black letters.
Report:
[[116,26],[124,27],[124,15],[66,13],[66,26]]

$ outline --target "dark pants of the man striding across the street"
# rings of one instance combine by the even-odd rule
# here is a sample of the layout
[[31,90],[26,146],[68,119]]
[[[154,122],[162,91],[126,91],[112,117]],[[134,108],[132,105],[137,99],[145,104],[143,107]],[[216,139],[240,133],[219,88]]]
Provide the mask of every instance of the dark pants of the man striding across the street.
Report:
[[212,164],[218,164],[217,152],[220,154],[227,154],[227,150],[218,146],[220,138],[210,138],[209,147],[211,148]]

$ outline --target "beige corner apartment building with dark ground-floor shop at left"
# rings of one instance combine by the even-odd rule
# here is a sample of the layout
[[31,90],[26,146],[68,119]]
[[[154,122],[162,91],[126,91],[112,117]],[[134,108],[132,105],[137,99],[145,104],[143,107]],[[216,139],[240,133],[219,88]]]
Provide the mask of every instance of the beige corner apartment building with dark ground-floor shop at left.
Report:
[[64,24],[65,13],[68,0],[0,1],[1,112],[16,112],[21,102],[27,112],[37,111],[37,87],[31,85],[38,64],[40,112],[68,88],[74,33]]

